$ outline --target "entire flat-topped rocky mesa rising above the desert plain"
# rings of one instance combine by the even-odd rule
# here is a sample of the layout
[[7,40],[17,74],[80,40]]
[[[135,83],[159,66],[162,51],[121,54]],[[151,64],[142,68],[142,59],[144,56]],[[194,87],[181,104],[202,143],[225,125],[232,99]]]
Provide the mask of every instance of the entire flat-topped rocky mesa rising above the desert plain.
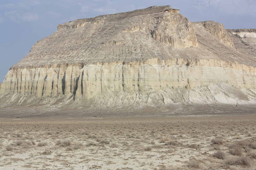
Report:
[[1,105],[255,103],[255,35],[170,6],[70,21],[10,68]]

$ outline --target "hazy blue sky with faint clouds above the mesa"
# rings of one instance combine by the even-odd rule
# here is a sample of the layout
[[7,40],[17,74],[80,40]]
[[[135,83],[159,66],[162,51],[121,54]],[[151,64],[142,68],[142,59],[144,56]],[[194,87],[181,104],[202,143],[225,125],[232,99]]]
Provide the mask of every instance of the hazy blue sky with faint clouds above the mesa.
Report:
[[213,20],[226,29],[256,28],[256,0],[0,0],[0,82],[58,24],[155,5],[179,9],[191,22]]

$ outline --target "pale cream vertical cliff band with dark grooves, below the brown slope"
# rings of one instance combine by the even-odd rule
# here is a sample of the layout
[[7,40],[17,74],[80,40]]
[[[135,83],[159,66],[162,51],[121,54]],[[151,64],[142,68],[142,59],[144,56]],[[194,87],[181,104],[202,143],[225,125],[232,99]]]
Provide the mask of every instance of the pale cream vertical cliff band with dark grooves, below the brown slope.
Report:
[[256,88],[255,74],[253,66],[216,59],[152,58],[144,62],[27,66],[10,69],[0,94],[28,93],[40,99],[73,94],[74,100],[88,101],[106,92],[193,90],[221,82],[236,89],[249,89]]

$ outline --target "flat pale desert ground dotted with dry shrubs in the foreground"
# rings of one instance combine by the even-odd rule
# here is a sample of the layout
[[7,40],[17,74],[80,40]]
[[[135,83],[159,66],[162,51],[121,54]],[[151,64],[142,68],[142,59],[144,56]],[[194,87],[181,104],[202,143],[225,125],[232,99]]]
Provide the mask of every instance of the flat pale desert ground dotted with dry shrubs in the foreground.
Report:
[[255,169],[256,115],[0,118],[0,169]]

